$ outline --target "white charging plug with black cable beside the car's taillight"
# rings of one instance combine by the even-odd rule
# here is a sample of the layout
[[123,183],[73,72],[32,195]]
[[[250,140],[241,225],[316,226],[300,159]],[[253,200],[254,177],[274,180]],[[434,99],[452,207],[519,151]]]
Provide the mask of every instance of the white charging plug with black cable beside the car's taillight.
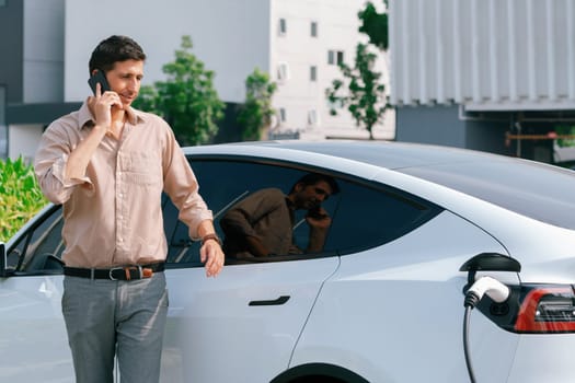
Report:
[[469,318],[471,310],[487,294],[494,302],[503,303],[509,298],[509,288],[497,279],[492,277],[482,277],[476,280],[465,293],[465,315],[463,318],[463,351],[465,352],[465,364],[468,367],[469,379],[471,383],[475,383],[475,375],[473,373],[473,365],[469,352]]

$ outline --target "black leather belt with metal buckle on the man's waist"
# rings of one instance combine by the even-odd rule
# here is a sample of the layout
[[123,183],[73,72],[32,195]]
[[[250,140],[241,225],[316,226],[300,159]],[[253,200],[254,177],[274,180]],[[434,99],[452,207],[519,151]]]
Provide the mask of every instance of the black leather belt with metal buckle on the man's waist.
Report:
[[107,269],[103,268],[81,268],[65,267],[64,275],[70,277],[81,277],[90,279],[110,279],[110,280],[134,280],[150,278],[154,272],[164,270],[164,263],[136,266],[118,266]]

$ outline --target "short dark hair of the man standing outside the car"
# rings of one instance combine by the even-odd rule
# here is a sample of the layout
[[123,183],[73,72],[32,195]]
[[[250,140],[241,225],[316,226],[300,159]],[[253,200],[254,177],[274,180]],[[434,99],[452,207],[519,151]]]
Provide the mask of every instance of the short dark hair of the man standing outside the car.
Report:
[[114,35],[100,42],[92,51],[88,67],[90,74],[94,69],[107,72],[114,68],[114,63],[126,60],[143,61],[146,54],[139,44],[130,37]]

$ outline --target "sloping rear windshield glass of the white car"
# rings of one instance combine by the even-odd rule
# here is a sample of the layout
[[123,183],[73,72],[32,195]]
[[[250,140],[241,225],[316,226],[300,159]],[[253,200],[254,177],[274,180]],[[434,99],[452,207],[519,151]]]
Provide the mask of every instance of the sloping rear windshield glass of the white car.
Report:
[[575,172],[571,170],[527,161],[482,161],[398,171],[532,219],[575,230]]

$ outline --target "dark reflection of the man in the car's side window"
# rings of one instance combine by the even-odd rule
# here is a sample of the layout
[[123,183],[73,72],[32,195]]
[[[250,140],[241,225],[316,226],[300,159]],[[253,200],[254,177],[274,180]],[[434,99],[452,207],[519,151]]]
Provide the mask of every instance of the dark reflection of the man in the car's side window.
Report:
[[[287,196],[277,188],[253,193],[220,220],[226,254],[250,258],[321,252],[332,222],[321,202],[338,190],[332,177],[312,173],[301,177]],[[299,248],[292,237],[295,211],[299,209],[308,210],[310,234],[306,249]]]

